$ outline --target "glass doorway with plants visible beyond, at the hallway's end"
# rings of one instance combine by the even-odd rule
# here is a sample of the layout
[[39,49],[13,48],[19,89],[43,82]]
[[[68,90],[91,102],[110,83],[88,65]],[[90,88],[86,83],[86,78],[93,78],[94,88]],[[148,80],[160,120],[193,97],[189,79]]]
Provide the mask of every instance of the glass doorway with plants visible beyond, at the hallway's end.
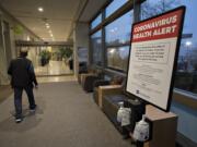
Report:
[[73,75],[72,47],[42,46],[21,47],[28,50],[27,58],[33,62],[36,76]]

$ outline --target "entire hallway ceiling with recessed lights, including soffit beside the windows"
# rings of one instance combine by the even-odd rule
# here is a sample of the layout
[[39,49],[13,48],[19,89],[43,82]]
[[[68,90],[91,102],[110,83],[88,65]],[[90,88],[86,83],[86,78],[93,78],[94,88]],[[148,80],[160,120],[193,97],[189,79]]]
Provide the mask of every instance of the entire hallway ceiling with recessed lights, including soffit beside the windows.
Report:
[[[76,21],[89,22],[107,0],[0,0],[1,5],[46,41],[66,41]],[[44,12],[37,9],[42,7]],[[46,28],[46,23],[49,28]],[[51,33],[49,33],[51,30]],[[51,36],[53,34],[53,36]]]

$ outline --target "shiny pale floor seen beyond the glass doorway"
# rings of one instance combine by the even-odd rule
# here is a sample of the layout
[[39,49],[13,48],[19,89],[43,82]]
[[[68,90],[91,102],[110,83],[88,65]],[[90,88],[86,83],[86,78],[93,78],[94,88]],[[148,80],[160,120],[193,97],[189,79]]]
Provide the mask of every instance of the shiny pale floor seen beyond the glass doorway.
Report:
[[65,61],[50,60],[45,66],[36,66],[35,73],[39,76],[72,74],[73,72],[69,69],[69,65]]

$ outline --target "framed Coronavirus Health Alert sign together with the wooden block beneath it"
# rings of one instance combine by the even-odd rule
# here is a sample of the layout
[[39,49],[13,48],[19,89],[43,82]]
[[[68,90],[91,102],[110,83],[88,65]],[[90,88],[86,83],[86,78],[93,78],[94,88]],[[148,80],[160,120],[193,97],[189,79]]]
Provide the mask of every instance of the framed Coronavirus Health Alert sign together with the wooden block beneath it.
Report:
[[152,105],[146,106],[151,138],[143,147],[175,147],[177,115],[169,111],[184,15],[179,7],[132,25],[126,93]]

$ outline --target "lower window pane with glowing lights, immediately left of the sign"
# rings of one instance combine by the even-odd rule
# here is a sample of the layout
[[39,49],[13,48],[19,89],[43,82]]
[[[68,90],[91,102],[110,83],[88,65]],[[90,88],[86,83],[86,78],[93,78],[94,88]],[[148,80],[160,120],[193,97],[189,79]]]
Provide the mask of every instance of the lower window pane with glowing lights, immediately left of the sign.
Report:
[[107,66],[126,72],[128,54],[129,46],[107,48]]

